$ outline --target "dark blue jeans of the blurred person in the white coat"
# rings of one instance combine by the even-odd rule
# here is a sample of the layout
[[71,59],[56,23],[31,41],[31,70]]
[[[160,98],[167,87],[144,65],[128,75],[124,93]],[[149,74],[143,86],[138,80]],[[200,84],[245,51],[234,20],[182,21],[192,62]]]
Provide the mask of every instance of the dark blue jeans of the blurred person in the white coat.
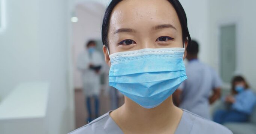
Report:
[[[98,96],[93,96],[93,99],[94,99],[94,115],[95,115],[95,118],[98,118],[99,117],[99,97]],[[91,113],[91,98],[90,97],[87,97],[85,98],[85,101],[86,101],[86,104],[87,104],[87,111],[88,111],[88,119],[87,121],[88,122],[91,122],[93,120],[93,117],[92,117],[92,113]]]

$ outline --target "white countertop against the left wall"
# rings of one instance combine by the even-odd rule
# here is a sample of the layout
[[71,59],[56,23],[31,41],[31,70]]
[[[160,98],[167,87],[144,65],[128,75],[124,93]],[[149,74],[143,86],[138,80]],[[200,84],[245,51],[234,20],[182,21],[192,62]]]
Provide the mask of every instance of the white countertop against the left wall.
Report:
[[42,118],[46,115],[49,83],[21,83],[0,102],[0,120]]

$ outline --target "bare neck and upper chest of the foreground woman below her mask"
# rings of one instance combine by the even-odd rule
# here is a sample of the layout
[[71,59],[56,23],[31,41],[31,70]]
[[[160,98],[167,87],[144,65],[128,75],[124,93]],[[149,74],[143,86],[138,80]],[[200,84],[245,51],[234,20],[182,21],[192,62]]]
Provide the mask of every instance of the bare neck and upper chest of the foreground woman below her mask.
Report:
[[146,109],[125,97],[124,105],[110,116],[126,133],[174,133],[183,111],[174,106],[172,96],[156,108]]

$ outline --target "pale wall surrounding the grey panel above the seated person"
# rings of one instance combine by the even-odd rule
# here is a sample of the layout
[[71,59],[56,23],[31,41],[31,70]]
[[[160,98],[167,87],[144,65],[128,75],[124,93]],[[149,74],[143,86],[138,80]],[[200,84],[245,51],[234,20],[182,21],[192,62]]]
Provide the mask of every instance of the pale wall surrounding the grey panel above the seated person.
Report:
[[221,24],[237,23],[237,71],[243,74],[256,90],[255,31],[256,1],[254,0],[211,0],[210,1],[210,61],[219,69],[219,35]]

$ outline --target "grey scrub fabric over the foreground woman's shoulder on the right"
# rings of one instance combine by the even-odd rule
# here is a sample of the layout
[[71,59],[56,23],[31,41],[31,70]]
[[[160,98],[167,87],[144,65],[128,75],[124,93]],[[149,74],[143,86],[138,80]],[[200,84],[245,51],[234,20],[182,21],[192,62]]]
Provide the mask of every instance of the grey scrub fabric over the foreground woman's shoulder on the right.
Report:
[[192,112],[184,111],[186,121],[183,125],[190,124],[190,134],[233,134],[228,128],[216,122],[210,121]]

